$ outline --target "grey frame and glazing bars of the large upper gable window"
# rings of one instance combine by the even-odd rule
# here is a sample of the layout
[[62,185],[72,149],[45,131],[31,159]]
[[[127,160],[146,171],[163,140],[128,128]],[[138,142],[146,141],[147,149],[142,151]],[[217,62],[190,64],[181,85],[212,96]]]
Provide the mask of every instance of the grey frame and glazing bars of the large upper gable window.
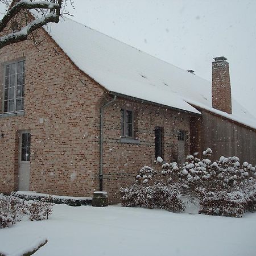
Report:
[[[22,84],[18,85],[18,63],[20,62],[23,62],[23,72],[20,73],[20,74],[23,74],[22,75],[22,80],[24,80],[24,83],[22,81]],[[8,88],[11,88],[10,87],[10,81],[9,81],[9,87],[6,88],[6,66],[7,65],[11,65],[11,64],[15,64],[15,74],[14,74],[14,98],[13,98],[13,101],[14,101],[14,105],[13,105],[13,110],[12,111],[6,111],[5,112],[5,90]],[[2,70],[3,70],[3,82],[2,82],[2,111],[1,113],[2,114],[11,114],[11,113],[20,113],[20,112],[24,112],[24,93],[23,93],[23,97],[18,97],[18,100],[20,99],[21,100],[21,103],[23,102],[23,108],[22,108],[22,105],[21,105],[21,109],[20,110],[16,110],[16,103],[17,103],[17,86],[20,86],[23,88],[25,88],[25,74],[26,74],[26,59],[23,58],[20,58],[20,59],[16,59],[16,60],[10,60],[10,61],[6,61],[5,63],[2,64]],[[10,75],[9,75],[10,77]],[[23,89],[22,88],[22,89]],[[22,96],[22,92],[21,92],[21,96]],[[9,97],[7,98],[8,101],[9,101]],[[9,106],[8,106],[9,107]]]

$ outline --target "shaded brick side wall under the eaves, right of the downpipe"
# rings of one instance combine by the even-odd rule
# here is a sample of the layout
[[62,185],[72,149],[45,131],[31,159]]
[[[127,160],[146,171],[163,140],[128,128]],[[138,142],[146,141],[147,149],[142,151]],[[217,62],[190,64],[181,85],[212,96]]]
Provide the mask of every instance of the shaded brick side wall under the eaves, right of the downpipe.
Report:
[[[138,143],[121,143],[121,109],[134,111],[135,138]],[[133,183],[144,165],[152,166],[155,160],[155,126],[164,127],[164,160],[177,158],[177,129],[187,132],[185,154],[189,154],[189,115],[175,110],[118,98],[104,112],[104,190],[110,203],[119,200],[119,188]]]

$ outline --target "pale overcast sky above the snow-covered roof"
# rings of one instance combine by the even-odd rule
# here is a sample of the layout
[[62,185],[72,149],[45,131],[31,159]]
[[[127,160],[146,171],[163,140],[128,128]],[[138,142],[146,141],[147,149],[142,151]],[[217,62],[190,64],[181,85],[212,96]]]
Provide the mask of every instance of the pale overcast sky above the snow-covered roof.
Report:
[[73,19],[211,80],[229,62],[233,96],[256,115],[256,0],[75,0]]

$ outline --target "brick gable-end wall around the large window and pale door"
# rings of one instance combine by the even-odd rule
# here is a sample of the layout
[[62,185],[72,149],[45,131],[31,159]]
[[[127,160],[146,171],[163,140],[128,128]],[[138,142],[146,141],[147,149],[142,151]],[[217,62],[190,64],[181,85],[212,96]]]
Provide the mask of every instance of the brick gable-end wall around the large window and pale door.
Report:
[[[24,114],[0,113],[1,192],[18,188],[19,131],[31,131],[30,190],[91,196],[97,187],[100,118],[104,90],[80,72],[51,38],[36,48],[28,40],[0,50],[0,77],[7,61],[26,59]],[[82,82],[81,82],[81,81]],[[3,81],[0,86],[3,106]]]

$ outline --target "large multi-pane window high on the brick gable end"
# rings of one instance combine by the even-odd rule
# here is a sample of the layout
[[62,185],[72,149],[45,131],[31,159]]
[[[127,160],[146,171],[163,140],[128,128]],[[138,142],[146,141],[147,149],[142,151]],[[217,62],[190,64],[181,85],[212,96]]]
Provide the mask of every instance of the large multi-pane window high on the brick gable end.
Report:
[[5,96],[3,112],[24,109],[25,61],[5,65]]

